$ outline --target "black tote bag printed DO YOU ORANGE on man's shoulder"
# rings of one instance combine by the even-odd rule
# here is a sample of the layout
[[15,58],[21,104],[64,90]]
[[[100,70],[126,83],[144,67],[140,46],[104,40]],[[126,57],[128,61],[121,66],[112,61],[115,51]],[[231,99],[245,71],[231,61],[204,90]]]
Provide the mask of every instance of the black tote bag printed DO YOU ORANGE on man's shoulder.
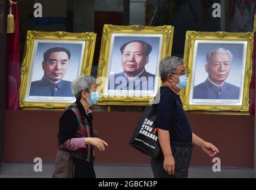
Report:
[[[161,93],[161,96],[163,94]],[[129,142],[132,147],[151,157],[156,157],[161,148],[158,142],[157,125],[155,124],[156,109],[157,105],[145,107]]]

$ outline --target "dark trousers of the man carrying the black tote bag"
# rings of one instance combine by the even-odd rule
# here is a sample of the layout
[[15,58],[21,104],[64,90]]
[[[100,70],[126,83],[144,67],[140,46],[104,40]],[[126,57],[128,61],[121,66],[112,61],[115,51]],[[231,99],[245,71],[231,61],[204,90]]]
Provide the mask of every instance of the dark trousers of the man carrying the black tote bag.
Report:
[[[179,146],[177,146],[179,145]],[[182,147],[182,143],[172,144],[171,152],[173,153],[175,161],[174,175],[168,175],[164,170],[164,155],[160,151],[157,157],[151,159],[151,169],[154,178],[188,178],[188,169],[191,162],[193,147],[192,144]]]

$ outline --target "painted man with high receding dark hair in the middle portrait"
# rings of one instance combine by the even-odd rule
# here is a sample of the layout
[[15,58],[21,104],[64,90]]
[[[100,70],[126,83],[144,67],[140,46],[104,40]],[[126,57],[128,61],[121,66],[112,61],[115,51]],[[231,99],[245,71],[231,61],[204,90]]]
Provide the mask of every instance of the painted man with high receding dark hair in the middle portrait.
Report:
[[142,40],[132,40],[120,47],[123,72],[110,75],[110,90],[154,90],[155,75],[146,72],[152,47]]

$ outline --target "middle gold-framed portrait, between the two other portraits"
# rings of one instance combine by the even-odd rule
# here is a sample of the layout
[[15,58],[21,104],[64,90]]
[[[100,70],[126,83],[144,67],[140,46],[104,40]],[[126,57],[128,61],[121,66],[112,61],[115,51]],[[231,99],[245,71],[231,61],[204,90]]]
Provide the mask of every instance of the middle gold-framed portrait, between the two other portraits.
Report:
[[105,24],[97,74],[98,105],[148,105],[161,84],[158,66],[171,55],[173,26]]

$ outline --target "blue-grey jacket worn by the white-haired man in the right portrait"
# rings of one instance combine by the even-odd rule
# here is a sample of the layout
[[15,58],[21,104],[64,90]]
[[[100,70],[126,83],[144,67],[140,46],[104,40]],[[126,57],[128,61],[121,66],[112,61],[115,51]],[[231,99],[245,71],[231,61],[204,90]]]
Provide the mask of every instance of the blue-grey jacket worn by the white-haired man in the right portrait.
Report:
[[207,78],[193,88],[193,99],[239,99],[239,92],[240,88],[233,84],[224,82],[218,87]]

